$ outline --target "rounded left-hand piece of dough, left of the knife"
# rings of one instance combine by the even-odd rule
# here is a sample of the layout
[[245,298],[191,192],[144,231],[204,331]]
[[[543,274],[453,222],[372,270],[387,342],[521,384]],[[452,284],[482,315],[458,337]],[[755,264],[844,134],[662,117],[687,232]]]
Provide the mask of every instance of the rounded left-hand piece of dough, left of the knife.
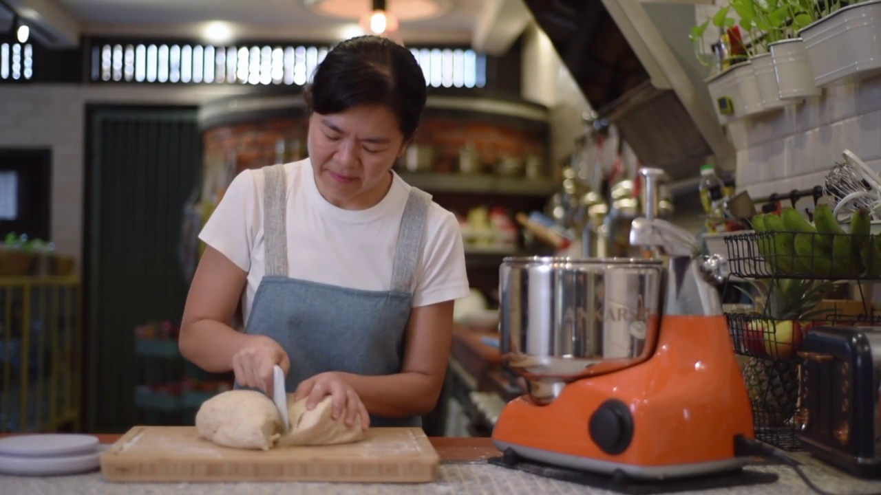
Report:
[[269,450],[280,436],[281,414],[261,392],[227,390],[202,403],[196,430],[224,447]]

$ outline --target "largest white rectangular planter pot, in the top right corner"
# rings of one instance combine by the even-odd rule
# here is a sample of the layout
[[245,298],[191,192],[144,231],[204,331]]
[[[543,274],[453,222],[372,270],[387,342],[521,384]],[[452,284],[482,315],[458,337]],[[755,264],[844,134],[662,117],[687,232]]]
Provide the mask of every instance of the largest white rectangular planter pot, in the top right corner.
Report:
[[819,87],[881,71],[881,0],[849,5],[804,27],[798,35],[804,40]]

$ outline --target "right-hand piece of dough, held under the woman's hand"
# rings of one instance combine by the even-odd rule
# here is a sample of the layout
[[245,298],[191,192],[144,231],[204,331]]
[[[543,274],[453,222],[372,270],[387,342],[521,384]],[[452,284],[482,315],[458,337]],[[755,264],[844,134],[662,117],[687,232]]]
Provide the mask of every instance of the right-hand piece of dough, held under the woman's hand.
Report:
[[288,395],[287,401],[291,429],[278,439],[278,447],[353,443],[364,440],[366,436],[360,413],[352,426],[345,425],[345,410],[336,420],[330,417],[333,412],[330,395],[325,396],[313,410],[306,409],[306,399],[294,402],[293,395]]

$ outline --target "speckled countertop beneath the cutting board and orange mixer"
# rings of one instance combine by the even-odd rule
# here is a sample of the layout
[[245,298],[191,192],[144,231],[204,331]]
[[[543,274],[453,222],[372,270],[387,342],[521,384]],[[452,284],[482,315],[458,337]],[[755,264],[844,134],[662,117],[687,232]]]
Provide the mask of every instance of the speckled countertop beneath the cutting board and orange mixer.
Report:
[[[0,435],[3,436],[3,435]],[[101,443],[109,444],[119,435],[96,435]],[[490,494],[506,495],[554,494],[611,494],[581,484],[566,483],[522,471],[501,468],[486,462],[499,455],[492,441],[485,438],[431,438],[433,447],[441,456],[438,479],[432,484],[331,484],[331,483],[225,483],[225,484],[115,484],[105,482],[100,473],[70,477],[8,477],[0,476],[3,495],[55,495],[56,493],[100,493],[106,495],[173,495],[248,493],[248,495],[276,495],[278,493],[332,494]],[[877,494],[881,480],[860,480],[849,477],[838,469],[811,458],[808,454],[793,454],[803,463],[803,470],[813,483],[830,493],[840,495]],[[774,484],[703,490],[709,494],[808,494],[814,493],[793,469],[781,465],[755,465],[748,469],[774,472],[780,479]],[[695,493],[697,491],[689,491]],[[685,493],[679,491],[678,493]]]

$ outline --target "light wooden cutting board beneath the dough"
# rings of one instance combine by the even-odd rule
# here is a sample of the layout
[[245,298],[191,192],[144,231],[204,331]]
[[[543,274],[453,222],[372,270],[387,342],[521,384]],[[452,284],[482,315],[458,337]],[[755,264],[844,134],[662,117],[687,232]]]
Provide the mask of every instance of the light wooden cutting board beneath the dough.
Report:
[[420,428],[370,428],[357,443],[269,451],[220,447],[195,426],[135,426],[101,454],[113,482],[428,483],[441,457]]

